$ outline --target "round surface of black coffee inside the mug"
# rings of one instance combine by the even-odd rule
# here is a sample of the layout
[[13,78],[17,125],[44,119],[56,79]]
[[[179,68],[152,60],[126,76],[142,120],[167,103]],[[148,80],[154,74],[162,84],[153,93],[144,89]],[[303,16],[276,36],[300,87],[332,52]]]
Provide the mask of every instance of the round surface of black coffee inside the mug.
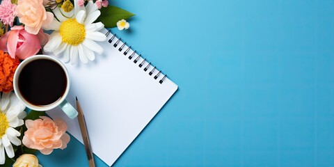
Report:
[[31,61],[19,74],[19,92],[24,100],[35,106],[56,102],[64,95],[66,86],[63,68],[47,59]]

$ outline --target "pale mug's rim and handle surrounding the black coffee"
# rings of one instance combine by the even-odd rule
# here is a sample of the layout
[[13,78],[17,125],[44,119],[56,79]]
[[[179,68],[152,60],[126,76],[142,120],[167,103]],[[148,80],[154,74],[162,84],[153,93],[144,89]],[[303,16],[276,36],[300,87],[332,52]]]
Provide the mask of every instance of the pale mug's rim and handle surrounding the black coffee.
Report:
[[[40,59],[46,59],[49,61],[54,61],[56,64],[58,64],[59,66],[62,67],[63,71],[65,72],[65,76],[66,76],[66,86],[65,86],[65,92],[63,93],[63,95],[56,100],[55,102],[52,102],[51,104],[46,104],[46,105],[35,105],[35,104],[31,104],[28,100],[26,100],[24,98],[24,96],[22,96],[22,93],[20,92],[19,89],[19,76],[22,72],[22,69],[24,69],[24,67],[26,65],[28,65],[29,63],[36,61],[36,60],[40,60]],[[63,63],[61,63],[61,61],[58,61],[58,59],[52,57],[52,56],[47,56],[47,55],[35,55],[35,56],[31,56],[29,58],[26,58],[24,61],[22,61],[22,63],[19,64],[19,66],[17,67],[15,74],[14,74],[14,79],[13,79],[13,86],[14,86],[14,91],[15,94],[17,95],[17,98],[23,102],[29,109],[33,109],[35,111],[48,111],[50,109],[54,109],[56,106],[60,106],[61,109],[66,113],[66,115],[68,117],[70,117],[71,119],[74,119],[77,117],[78,112],[76,109],[74,109],[74,107],[67,102],[67,100],[65,100],[69,90],[70,90],[70,76],[66,70],[66,67]]]

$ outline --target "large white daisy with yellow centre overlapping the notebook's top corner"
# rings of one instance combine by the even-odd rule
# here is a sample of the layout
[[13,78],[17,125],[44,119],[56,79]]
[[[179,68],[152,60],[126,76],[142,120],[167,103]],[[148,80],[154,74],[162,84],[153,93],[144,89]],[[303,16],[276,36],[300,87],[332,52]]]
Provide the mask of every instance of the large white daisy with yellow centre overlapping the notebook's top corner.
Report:
[[44,47],[45,51],[55,56],[63,55],[63,61],[71,61],[72,65],[77,63],[78,56],[83,63],[88,63],[95,59],[95,53],[103,53],[104,49],[94,42],[105,41],[106,35],[99,32],[104,28],[102,22],[93,23],[101,15],[93,1],[79,8],[75,0],[72,17],[64,17],[59,8],[54,10],[54,14],[60,22],[54,19],[47,27],[54,32]]

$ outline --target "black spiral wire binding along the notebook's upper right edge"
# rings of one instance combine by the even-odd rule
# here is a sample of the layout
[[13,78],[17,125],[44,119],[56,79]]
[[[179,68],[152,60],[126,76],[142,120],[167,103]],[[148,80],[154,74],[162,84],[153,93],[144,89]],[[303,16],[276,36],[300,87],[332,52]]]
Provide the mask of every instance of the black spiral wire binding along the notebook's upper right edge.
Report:
[[[110,33],[111,33],[111,31],[106,32],[106,34],[105,34],[106,37],[108,37],[108,35],[109,35]],[[113,34],[113,36],[108,40],[108,42],[109,42],[109,43],[113,42],[113,39],[114,39],[115,37],[116,37],[116,34]],[[119,38],[119,39],[113,44],[113,47],[117,47],[117,46],[118,46],[118,43],[121,41],[121,39],[122,39],[122,38]],[[122,50],[124,49],[125,46],[127,46],[127,42],[124,42],[124,43],[122,44],[122,46],[120,46],[120,47],[118,48],[118,51],[122,51]],[[123,52],[123,54],[126,56],[126,55],[129,53],[130,49],[131,49],[131,46],[128,47],[128,48]],[[135,54],[136,54],[136,50],[133,51],[132,54],[129,56],[129,60],[131,60],[131,59],[134,57]],[[134,63],[135,63],[135,64],[138,63],[139,58],[143,58],[143,57],[141,56],[141,54],[139,54],[139,55],[136,57],[136,59],[134,59]],[[138,67],[143,67],[143,65],[145,64],[145,62],[148,62],[148,61],[146,61],[146,58],[143,59],[143,61],[138,65]],[[152,63],[148,62],[148,65],[146,65],[146,67],[144,67],[143,70],[144,70],[145,72],[148,71],[148,69],[150,68],[151,65],[152,65]],[[153,69],[152,69],[150,72],[148,72],[148,74],[152,76],[152,74],[154,73],[155,70],[157,70],[157,67],[154,66]],[[158,72],[156,75],[154,75],[153,78],[154,78],[154,79],[158,79],[158,77],[159,77],[160,74],[162,74],[161,70],[159,70],[159,72]],[[167,77],[166,74],[163,74],[163,75],[164,75],[164,77],[162,77],[162,79],[159,80],[159,84],[164,83],[164,81],[165,81],[165,79],[166,79],[166,77]]]

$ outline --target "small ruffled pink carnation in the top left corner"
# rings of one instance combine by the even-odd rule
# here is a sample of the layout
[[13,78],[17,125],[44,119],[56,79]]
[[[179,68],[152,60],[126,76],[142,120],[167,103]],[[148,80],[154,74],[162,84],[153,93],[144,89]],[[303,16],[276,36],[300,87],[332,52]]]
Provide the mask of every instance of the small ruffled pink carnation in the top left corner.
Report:
[[15,12],[16,5],[10,0],[3,0],[0,5],[0,20],[3,24],[13,26],[14,19],[17,15]]

